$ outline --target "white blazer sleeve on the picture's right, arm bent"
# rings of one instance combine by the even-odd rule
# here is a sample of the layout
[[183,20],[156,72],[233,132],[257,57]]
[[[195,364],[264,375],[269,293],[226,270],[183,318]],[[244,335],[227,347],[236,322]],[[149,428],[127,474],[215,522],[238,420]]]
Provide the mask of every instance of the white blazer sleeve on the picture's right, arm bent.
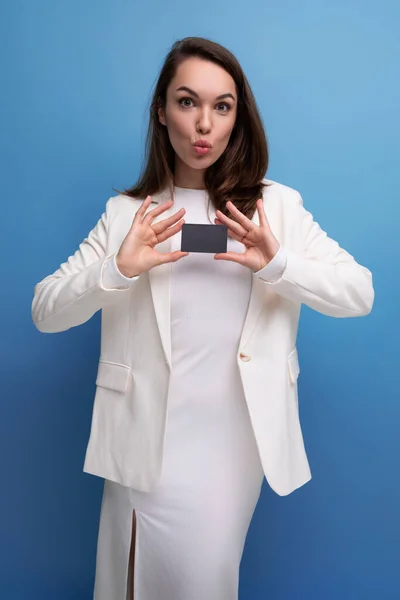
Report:
[[302,254],[284,247],[282,276],[265,285],[289,300],[302,302],[330,317],[361,317],[371,312],[374,288],[371,272],[329,238],[297,193],[296,218],[304,242]]

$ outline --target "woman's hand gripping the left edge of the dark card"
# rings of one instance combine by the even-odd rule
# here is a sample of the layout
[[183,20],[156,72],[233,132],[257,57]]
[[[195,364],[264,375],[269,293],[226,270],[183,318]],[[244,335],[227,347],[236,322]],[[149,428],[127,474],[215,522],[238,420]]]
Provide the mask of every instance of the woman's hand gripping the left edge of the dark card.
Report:
[[157,265],[175,262],[189,254],[189,252],[182,252],[181,250],[161,254],[154,249],[156,244],[170,238],[182,229],[185,222],[182,217],[186,211],[181,208],[168,219],[158,221],[158,223],[152,225],[155,217],[171,208],[172,200],[160,204],[145,215],[150,203],[151,196],[147,196],[137,211],[131,228],[118,250],[116,256],[117,267],[125,277],[135,277]]

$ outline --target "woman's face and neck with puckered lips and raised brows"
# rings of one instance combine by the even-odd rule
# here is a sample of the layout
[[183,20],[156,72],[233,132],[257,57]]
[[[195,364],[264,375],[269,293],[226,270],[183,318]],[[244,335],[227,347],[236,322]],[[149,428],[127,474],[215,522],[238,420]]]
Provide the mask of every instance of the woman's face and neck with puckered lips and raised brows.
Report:
[[[205,171],[227,147],[236,113],[235,82],[222,67],[197,57],[179,65],[167,89],[166,110],[158,109],[175,150],[175,185],[204,188]],[[200,139],[212,145],[205,154],[195,150]]]

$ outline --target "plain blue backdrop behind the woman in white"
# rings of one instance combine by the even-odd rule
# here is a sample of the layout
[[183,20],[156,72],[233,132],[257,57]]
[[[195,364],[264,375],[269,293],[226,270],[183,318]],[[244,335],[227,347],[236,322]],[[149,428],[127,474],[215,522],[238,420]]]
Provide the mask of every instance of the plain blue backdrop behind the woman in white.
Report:
[[103,480],[82,468],[100,314],[42,334],[33,287],[75,252],[112,187],[136,181],[153,85],[189,35],[237,56],[268,134],[268,177],[300,191],[376,291],[366,318],[303,307],[299,402],[313,479],[287,497],[264,481],[240,598],[399,597],[399,6],[3,4],[2,599],[92,598]]

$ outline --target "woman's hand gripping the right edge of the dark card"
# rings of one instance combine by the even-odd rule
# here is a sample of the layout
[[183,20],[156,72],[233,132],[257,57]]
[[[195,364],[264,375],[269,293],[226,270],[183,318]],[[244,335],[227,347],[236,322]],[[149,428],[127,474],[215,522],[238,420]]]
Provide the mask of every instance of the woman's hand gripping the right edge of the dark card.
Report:
[[269,226],[262,198],[257,200],[260,225],[256,225],[248,219],[232,202],[228,201],[226,206],[239,223],[232,221],[220,210],[217,210],[216,215],[218,218],[215,219],[215,224],[227,225],[228,234],[234,240],[242,242],[246,246],[246,251],[242,254],[238,252],[221,252],[214,255],[215,260],[231,260],[252,269],[254,272],[263,269],[278,252],[280,244]]

